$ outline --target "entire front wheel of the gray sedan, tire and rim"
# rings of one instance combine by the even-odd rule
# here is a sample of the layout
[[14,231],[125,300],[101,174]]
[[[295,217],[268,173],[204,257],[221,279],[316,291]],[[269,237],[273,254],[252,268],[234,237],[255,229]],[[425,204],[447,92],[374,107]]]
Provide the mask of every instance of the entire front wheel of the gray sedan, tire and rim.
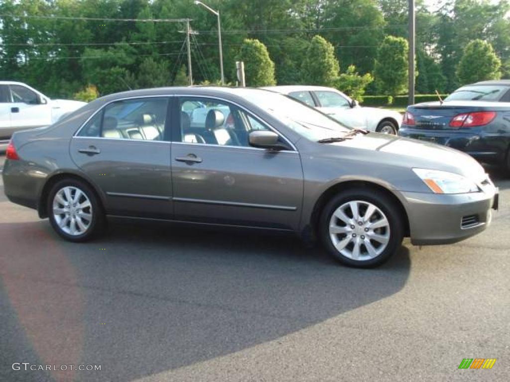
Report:
[[322,212],[322,241],[343,264],[360,268],[380,265],[402,243],[399,211],[386,195],[364,188],[345,190]]

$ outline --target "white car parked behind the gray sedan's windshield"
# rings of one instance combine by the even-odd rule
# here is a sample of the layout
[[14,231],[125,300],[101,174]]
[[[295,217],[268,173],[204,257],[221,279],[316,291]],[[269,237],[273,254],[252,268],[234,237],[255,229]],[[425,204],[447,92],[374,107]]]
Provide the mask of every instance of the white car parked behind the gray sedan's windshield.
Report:
[[264,89],[288,95],[352,128],[396,134],[402,121],[402,115],[398,112],[376,107],[362,107],[358,101],[333,88],[291,85]]

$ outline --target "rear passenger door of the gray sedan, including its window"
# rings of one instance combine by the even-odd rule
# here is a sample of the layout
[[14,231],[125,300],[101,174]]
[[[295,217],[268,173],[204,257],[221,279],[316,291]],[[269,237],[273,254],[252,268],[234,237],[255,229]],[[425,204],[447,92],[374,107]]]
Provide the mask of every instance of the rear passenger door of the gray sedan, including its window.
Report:
[[74,162],[106,195],[111,215],[171,219],[168,97],[106,105],[73,137]]

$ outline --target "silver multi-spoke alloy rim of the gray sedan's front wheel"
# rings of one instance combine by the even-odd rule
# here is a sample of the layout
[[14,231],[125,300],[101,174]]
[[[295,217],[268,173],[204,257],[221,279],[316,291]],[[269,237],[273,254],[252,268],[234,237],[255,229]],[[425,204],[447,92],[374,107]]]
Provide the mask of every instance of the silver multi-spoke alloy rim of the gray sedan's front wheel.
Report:
[[390,223],[375,205],[363,200],[342,204],[329,220],[329,237],[343,256],[358,261],[379,256],[390,241]]

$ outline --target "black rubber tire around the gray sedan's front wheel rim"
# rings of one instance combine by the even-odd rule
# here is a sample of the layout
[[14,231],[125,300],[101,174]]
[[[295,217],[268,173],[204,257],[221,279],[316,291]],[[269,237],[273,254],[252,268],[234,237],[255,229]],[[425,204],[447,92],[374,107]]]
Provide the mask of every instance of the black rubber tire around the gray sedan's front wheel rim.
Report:
[[[332,241],[333,239],[330,237],[329,223],[331,216],[337,210],[337,208],[351,201],[371,203],[386,215],[386,219],[389,222],[389,240],[386,244],[386,248],[376,257],[367,260],[354,260],[344,256],[337,250]],[[393,255],[400,248],[403,238],[403,217],[400,215],[400,211],[401,209],[399,206],[390,197],[382,194],[381,192],[370,188],[346,189],[332,198],[322,210],[319,221],[321,240],[331,255],[333,255],[342,264],[357,268],[371,268],[378,266],[387,261],[391,255]],[[347,235],[350,234],[345,234],[345,236],[340,237],[347,237]],[[362,245],[364,244],[362,243]],[[362,248],[364,248],[366,253],[368,253],[366,247]]]

